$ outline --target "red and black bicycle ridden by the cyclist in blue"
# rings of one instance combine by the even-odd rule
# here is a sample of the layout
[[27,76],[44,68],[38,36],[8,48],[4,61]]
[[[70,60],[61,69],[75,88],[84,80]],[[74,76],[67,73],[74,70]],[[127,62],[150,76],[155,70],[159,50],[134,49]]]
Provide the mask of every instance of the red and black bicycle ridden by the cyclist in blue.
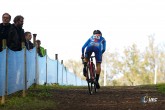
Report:
[[92,95],[93,93],[97,92],[96,89],[96,70],[95,70],[95,64],[93,63],[93,58],[95,56],[90,56],[89,61],[86,66],[86,81],[88,83],[88,90],[89,94]]

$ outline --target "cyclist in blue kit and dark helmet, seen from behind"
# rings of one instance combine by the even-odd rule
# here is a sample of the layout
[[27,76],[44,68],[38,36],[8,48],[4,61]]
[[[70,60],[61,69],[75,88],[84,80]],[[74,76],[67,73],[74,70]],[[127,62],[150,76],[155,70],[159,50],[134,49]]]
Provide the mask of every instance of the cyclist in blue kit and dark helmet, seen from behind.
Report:
[[[86,49],[86,51],[85,51]],[[84,60],[84,68],[83,74],[86,77],[86,66],[87,62],[91,56],[91,54],[95,53],[96,58],[96,88],[99,89],[99,77],[101,72],[101,62],[102,62],[102,54],[106,50],[106,40],[102,37],[102,33],[100,30],[94,30],[93,35],[86,41],[86,43],[82,47],[82,56],[81,58]],[[84,53],[85,51],[85,53]]]

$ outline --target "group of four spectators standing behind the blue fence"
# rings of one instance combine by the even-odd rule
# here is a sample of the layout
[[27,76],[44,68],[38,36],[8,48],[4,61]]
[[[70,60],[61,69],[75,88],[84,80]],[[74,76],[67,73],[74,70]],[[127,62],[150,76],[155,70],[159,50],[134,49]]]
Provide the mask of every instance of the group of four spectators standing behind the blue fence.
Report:
[[0,23],[0,52],[3,50],[3,39],[6,40],[7,47],[13,51],[21,51],[22,43],[25,44],[27,50],[31,50],[36,46],[37,53],[40,57],[45,56],[45,49],[41,46],[41,41],[36,40],[31,42],[32,33],[30,31],[24,32],[23,24],[24,17],[17,15],[10,23],[11,15],[4,13],[2,15],[2,23]]

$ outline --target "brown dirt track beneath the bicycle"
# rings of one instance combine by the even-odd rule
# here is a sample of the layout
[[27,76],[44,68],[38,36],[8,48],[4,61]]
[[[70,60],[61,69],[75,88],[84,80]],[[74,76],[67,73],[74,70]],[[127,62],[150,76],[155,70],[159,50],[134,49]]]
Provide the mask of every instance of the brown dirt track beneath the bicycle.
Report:
[[165,94],[153,87],[101,87],[93,95],[87,87],[52,92],[57,110],[165,110]]

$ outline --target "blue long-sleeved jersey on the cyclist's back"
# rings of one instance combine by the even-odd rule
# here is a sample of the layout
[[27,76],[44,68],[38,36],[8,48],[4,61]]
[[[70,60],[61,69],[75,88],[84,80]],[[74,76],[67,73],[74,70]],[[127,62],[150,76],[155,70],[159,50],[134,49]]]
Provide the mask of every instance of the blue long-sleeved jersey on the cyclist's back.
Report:
[[106,40],[102,36],[99,38],[91,36],[82,47],[82,55],[84,55],[84,50],[86,47],[94,47],[103,54],[106,50]]

